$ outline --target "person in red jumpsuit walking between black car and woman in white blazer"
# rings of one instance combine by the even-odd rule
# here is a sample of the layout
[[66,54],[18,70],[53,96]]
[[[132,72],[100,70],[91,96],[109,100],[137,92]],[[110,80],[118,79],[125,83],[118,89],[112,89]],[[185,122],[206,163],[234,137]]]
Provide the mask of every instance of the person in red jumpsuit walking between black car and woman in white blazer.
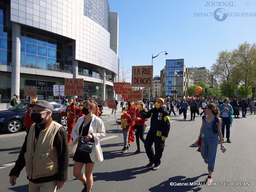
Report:
[[75,106],[73,98],[68,99],[68,104],[69,106],[66,108],[66,112],[60,109],[60,114],[68,117],[67,126],[68,126],[68,144],[69,144],[72,139],[71,132],[75,125],[74,123],[75,113],[78,114],[80,112],[80,109],[77,106]]

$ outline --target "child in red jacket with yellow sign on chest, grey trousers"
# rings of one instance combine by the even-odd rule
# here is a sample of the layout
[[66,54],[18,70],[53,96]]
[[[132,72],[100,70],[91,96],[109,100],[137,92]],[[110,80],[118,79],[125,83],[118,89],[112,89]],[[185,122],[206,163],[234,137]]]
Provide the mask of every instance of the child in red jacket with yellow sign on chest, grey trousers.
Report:
[[121,128],[123,128],[124,148],[122,149],[122,153],[125,153],[127,150],[129,150],[128,135],[131,129],[132,118],[130,115],[127,114],[127,109],[125,107],[123,108],[122,112],[124,115],[121,115],[121,121],[116,120],[116,123],[121,124]]

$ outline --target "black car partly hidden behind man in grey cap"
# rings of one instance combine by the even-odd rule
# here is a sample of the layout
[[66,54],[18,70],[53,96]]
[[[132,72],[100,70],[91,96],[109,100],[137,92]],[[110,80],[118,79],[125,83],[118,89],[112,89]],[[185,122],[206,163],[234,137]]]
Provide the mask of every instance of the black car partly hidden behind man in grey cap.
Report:
[[[28,104],[30,102],[23,102],[8,110],[0,111],[0,131],[6,131],[8,133],[16,133],[21,130],[24,125],[23,119],[26,116]],[[67,117],[61,116],[61,110],[66,111],[65,105],[50,102],[53,105],[52,120],[60,123],[61,125],[67,125]]]

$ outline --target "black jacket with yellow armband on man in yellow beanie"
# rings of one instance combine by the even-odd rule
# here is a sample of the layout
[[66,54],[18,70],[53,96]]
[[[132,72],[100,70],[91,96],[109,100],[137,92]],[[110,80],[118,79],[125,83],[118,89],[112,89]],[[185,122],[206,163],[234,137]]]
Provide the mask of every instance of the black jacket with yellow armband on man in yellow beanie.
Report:
[[161,131],[162,136],[168,137],[170,131],[170,118],[169,113],[163,106],[159,109],[156,107],[150,109],[149,111],[142,110],[141,118],[150,119],[150,129],[153,131]]

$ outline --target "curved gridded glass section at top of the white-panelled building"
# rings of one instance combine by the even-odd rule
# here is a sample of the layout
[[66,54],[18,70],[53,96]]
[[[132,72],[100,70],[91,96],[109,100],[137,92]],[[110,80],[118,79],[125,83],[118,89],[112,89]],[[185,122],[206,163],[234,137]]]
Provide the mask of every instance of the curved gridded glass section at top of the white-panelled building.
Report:
[[84,0],[84,15],[108,30],[108,0]]

